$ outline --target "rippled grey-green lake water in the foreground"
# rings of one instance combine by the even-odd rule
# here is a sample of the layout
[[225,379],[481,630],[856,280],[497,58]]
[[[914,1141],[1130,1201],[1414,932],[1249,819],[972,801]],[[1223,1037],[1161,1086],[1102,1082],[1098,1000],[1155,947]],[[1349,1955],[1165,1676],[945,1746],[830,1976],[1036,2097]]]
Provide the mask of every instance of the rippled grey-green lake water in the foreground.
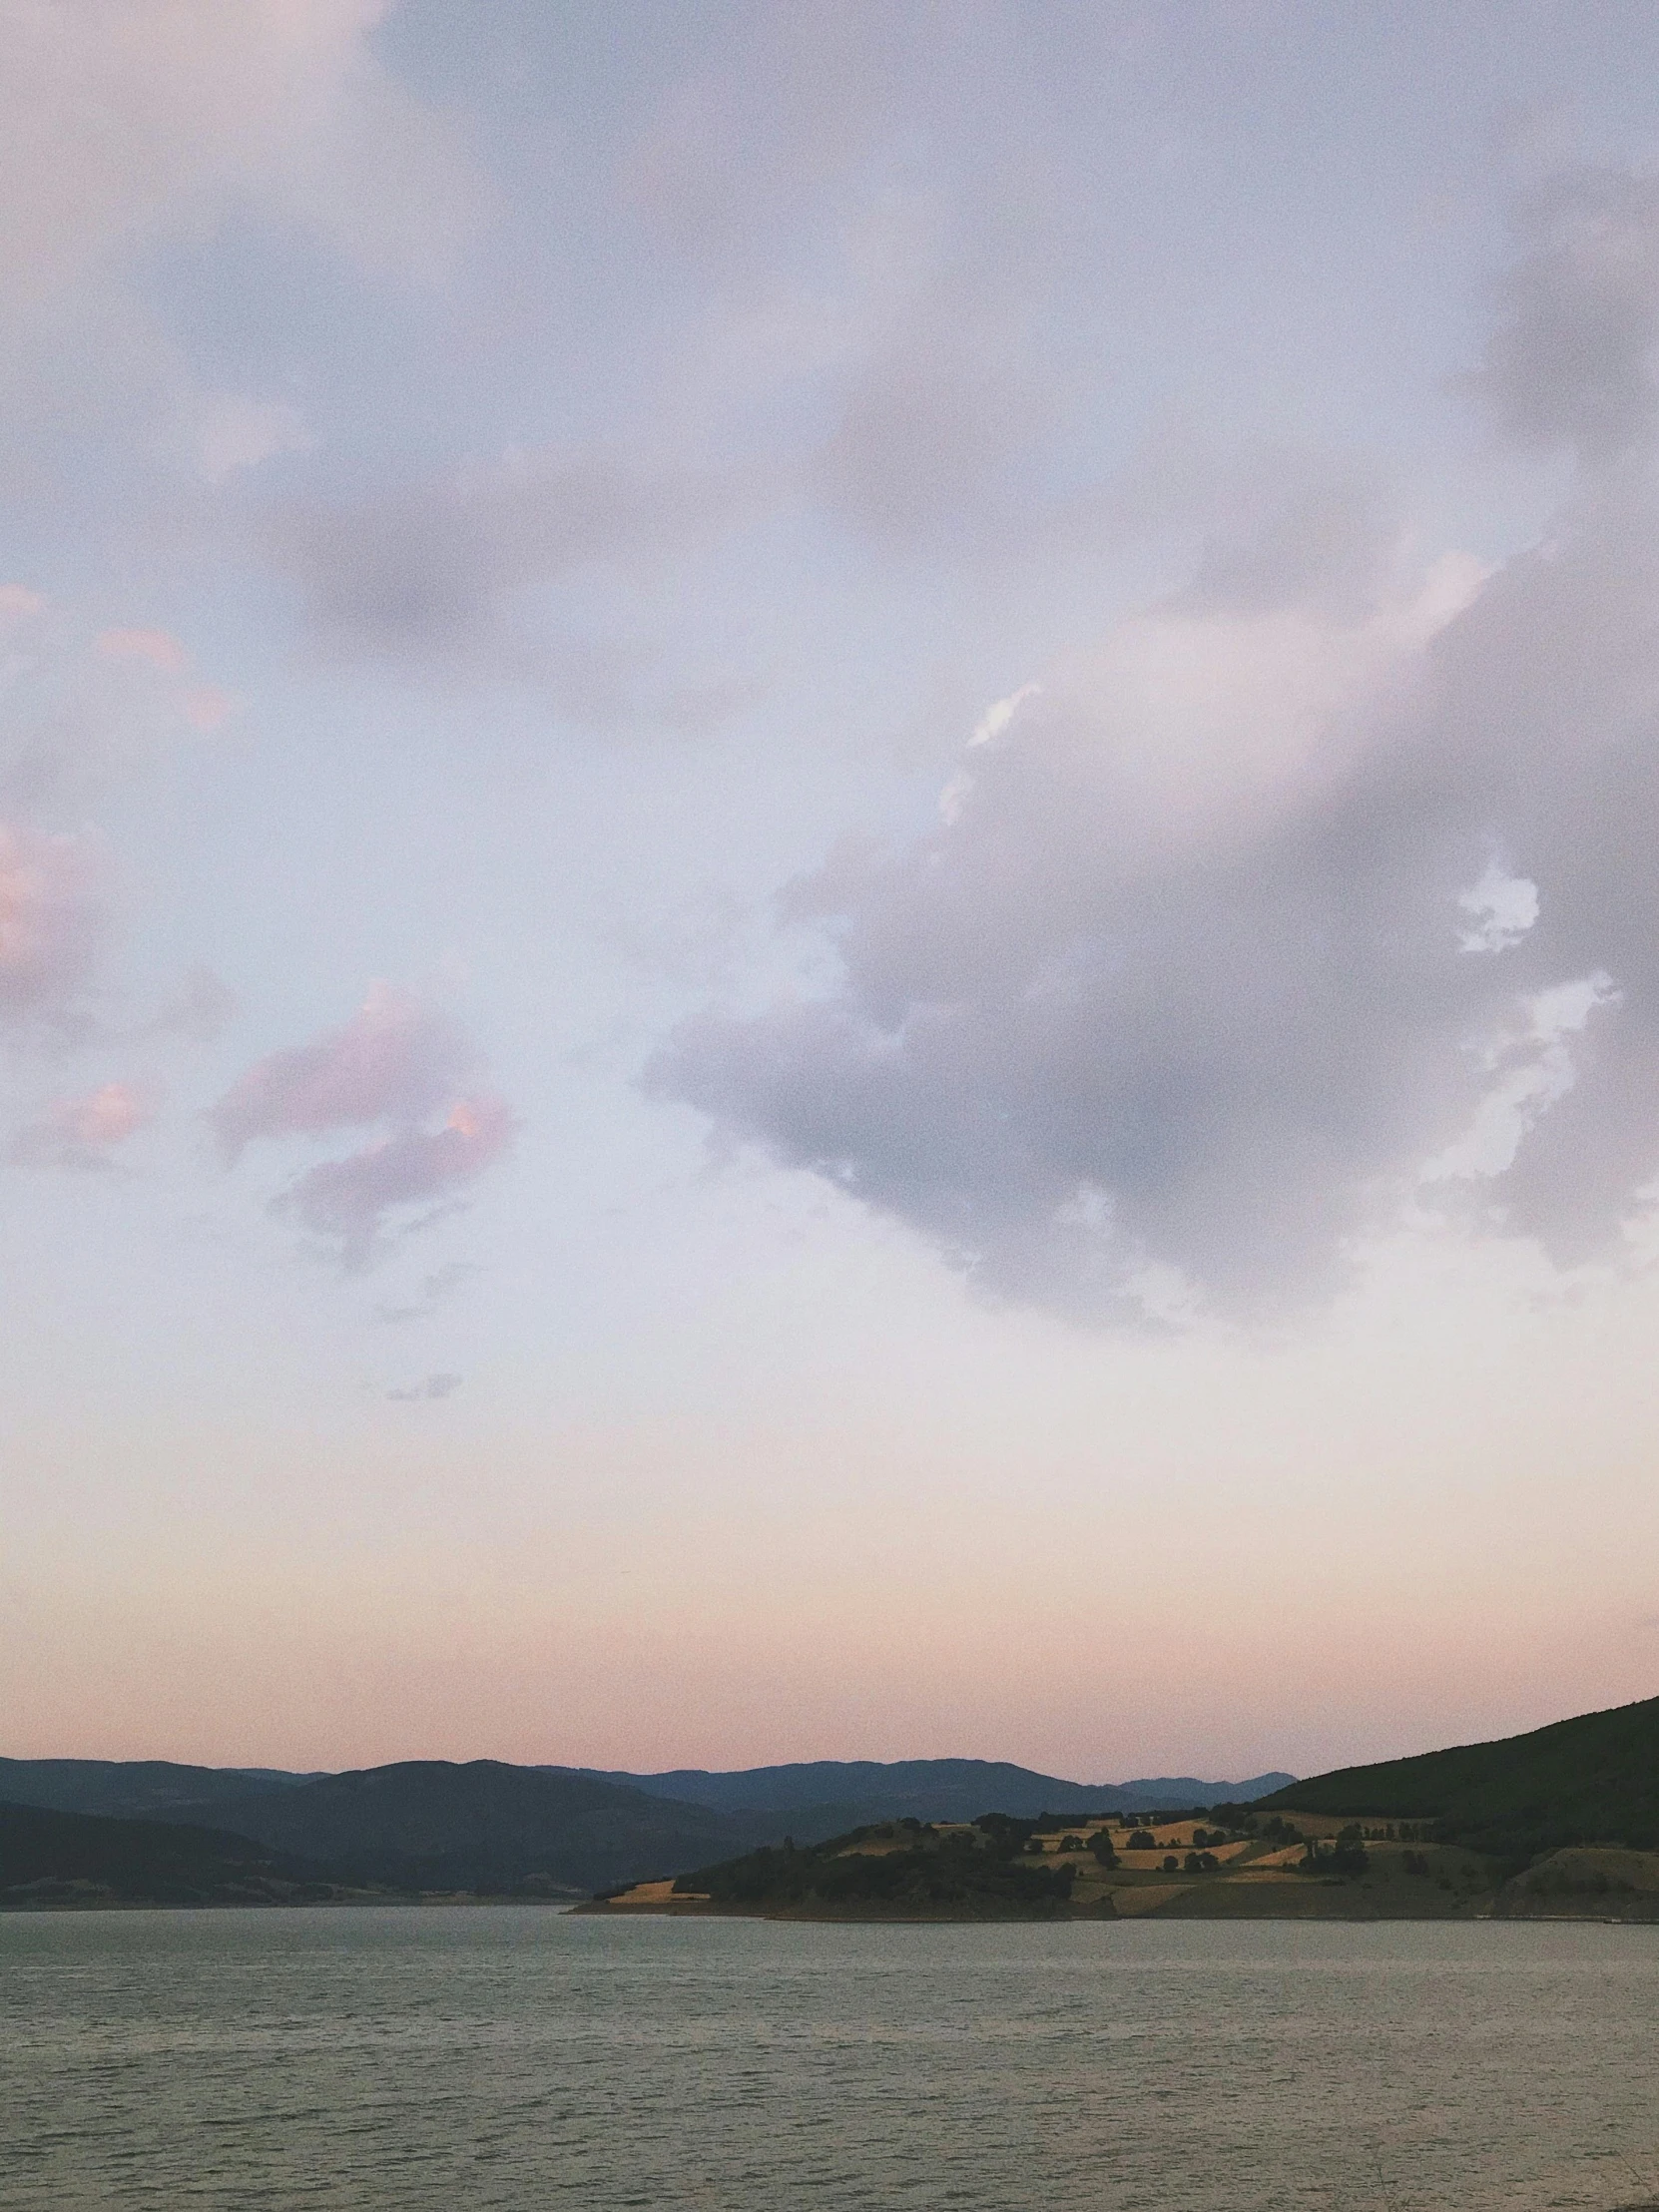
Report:
[[0,1918],[0,2205],[1608,2212],[1659,1929]]

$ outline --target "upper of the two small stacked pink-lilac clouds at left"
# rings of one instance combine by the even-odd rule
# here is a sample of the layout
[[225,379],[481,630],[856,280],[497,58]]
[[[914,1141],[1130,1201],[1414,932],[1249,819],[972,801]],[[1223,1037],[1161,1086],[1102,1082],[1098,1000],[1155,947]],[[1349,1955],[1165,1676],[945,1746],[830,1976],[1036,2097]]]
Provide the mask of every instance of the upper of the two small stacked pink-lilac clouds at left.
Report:
[[343,1029],[257,1060],[210,1119],[234,1164],[254,1137],[314,1137],[374,1121],[411,1126],[453,1099],[476,1064],[458,1022],[376,982]]

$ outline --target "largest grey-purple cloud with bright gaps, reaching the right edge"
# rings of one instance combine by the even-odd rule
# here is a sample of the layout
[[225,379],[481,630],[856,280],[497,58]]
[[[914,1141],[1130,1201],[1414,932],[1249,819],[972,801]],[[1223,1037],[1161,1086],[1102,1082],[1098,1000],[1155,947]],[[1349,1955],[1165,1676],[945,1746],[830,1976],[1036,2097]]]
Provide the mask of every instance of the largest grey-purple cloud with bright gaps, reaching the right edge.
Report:
[[1267,520],[1040,670],[933,830],[785,891],[812,980],[648,1086],[1077,1314],[1321,1294],[1413,1194],[1615,1250],[1659,1168],[1652,456],[1491,575],[1371,529],[1287,562]]

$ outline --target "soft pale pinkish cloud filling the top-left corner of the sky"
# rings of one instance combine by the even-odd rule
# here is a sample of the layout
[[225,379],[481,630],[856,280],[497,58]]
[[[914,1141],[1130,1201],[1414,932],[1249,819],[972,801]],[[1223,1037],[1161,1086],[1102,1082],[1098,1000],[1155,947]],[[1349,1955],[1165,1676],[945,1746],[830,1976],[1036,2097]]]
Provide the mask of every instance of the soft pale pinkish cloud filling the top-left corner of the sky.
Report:
[[[445,281],[489,212],[451,122],[380,60],[394,0],[15,0],[0,73],[0,467],[113,491],[223,484],[310,442],[281,396],[204,385],[157,259],[226,234]],[[219,294],[219,281],[212,283]],[[66,451],[69,449],[69,451]],[[177,513],[177,509],[175,509]]]

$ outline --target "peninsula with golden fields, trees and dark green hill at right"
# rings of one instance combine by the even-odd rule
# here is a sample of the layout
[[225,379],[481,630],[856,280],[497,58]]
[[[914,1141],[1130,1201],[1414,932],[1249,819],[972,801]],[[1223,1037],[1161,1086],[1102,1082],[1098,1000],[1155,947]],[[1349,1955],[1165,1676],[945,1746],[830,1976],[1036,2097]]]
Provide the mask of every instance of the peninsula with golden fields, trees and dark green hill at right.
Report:
[[1659,1920],[1659,1699],[1254,1805],[887,1820],[582,1911],[812,1920]]

